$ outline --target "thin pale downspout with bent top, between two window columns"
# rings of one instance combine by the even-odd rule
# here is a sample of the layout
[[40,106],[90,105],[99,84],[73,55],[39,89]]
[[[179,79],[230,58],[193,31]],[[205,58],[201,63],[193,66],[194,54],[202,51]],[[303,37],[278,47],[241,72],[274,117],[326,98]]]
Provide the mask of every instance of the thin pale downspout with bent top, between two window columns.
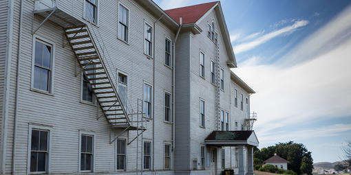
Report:
[[[163,14],[161,14],[160,18],[158,18],[157,21],[153,22],[153,78],[152,78],[152,114],[155,113],[155,31],[156,31],[156,23],[160,21],[163,17]],[[153,115],[153,120],[152,120],[152,170],[155,170],[155,115]]]

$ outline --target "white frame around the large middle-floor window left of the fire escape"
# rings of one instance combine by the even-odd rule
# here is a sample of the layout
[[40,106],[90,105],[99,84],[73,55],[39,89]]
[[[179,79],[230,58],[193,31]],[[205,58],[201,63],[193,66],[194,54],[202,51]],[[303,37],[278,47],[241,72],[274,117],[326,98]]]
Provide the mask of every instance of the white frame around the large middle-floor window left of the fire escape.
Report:
[[[44,45],[50,45],[52,47],[52,55],[50,58],[50,82],[47,84],[49,86],[49,91],[45,91],[43,89],[37,89],[34,88],[34,67],[35,67],[35,47],[36,47],[36,41],[44,44]],[[31,73],[31,81],[30,81],[30,90],[35,91],[38,93],[43,93],[47,95],[54,95],[54,67],[55,67],[55,48],[56,48],[56,43],[52,40],[47,40],[46,38],[43,38],[41,36],[38,36],[34,34],[33,40],[32,40],[32,73]]]

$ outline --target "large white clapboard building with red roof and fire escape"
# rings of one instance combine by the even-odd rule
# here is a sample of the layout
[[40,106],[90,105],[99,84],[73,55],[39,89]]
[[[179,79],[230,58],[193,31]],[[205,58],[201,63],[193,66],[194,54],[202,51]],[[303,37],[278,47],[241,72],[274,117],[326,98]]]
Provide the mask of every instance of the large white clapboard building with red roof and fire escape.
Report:
[[219,1],[0,1],[0,172],[251,175],[235,67]]

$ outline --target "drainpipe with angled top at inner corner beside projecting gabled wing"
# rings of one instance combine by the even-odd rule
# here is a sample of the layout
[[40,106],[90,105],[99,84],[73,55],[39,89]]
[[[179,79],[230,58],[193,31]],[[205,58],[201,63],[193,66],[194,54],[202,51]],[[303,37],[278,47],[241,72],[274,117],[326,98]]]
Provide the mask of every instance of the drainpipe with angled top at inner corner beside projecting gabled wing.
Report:
[[179,19],[180,25],[177,31],[177,34],[175,34],[174,42],[172,45],[172,116],[173,116],[173,123],[172,123],[172,152],[175,150],[175,43],[177,42],[180,29],[182,29],[182,17]]

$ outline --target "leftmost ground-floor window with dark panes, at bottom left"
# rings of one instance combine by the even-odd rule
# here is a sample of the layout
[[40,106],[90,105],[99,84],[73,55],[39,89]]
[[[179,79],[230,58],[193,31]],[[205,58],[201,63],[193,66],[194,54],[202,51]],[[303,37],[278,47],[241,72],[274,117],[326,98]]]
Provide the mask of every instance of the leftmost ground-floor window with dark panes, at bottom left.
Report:
[[30,172],[47,172],[49,131],[32,129]]

